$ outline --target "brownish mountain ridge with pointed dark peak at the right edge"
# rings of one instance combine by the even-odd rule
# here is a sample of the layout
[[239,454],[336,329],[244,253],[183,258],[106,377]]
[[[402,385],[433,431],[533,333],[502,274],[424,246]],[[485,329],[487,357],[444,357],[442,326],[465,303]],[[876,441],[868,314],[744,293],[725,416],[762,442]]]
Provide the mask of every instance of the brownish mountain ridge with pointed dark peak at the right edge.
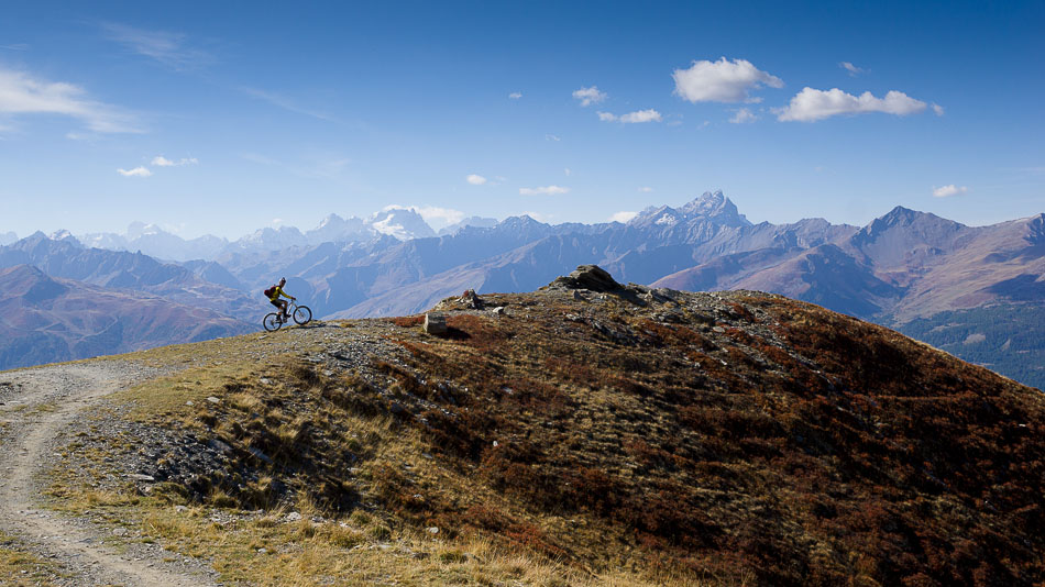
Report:
[[[966,226],[897,207],[831,245],[779,250],[772,261],[761,264],[746,263],[743,254],[715,259],[654,285],[761,289],[861,318],[888,315],[903,323],[987,302],[1042,299],[1024,291],[1033,290],[1045,275],[1045,247],[1035,244],[1043,218]],[[839,288],[854,288],[851,303],[838,301]],[[834,303],[823,301],[833,296]]]

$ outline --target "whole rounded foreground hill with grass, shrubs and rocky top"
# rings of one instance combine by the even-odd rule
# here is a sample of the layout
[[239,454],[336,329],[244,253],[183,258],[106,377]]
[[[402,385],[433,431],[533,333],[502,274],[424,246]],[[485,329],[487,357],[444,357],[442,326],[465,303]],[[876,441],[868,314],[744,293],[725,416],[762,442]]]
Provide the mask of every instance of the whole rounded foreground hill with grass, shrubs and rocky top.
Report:
[[82,363],[135,383],[42,451],[47,505],[237,585],[1045,580],[1035,389],[806,302],[594,266],[437,314]]

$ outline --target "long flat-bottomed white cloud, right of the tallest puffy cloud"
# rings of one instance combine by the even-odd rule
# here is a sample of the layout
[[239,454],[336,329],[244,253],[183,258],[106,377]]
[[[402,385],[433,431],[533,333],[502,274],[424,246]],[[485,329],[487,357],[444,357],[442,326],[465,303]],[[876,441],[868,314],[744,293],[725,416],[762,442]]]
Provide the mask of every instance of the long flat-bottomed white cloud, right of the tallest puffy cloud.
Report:
[[774,112],[777,120],[813,122],[839,114],[884,112],[903,117],[923,110],[925,102],[897,90],[890,91],[884,98],[876,98],[869,91],[853,96],[838,88],[824,91],[806,87],[791,99],[787,108],[778,108]]

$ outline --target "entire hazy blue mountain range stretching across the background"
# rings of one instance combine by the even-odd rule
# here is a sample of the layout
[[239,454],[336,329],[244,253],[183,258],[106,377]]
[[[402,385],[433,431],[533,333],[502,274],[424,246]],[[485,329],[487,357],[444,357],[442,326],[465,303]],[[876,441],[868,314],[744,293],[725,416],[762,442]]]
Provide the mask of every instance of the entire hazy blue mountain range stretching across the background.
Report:
[[[676,208],[648,208],[627,223],[551,225],[526,215],[492,222],[472,218],[439,235],[416,210],[393,207],[365,220],[330,214],[310,231],[262,229],[233,242],[184,241],[144,224],[132,225],[123,241],[37,233],[0,247],[0,267],[32,264],[53,277],[256,321],[265,311],[257,292],[280,276],[317,317],[355,318],[420,312],[465,289],[528,291],[598,264],[656,287],[757,289],[811,301],[919,332],[1045,387],[1045,332],[1002,337],[1013,329],[999,328],[1005,317],[1030,315],[1033,334],[1045,322],[1037,319],[1045,317],[1045,214],[967,226],[897,207],[866,226],[824,219],[754,224],[715,191]],[[122,251],[134,247],[141,253]],[[206,254],[185,261],[193,252]],[[993,318],[969,313],[982,308]],[[946,312],[952,322],[935,324]],[[970,342],[955,344],[959,331]],[[946,339],[934,339],[942,333]]]

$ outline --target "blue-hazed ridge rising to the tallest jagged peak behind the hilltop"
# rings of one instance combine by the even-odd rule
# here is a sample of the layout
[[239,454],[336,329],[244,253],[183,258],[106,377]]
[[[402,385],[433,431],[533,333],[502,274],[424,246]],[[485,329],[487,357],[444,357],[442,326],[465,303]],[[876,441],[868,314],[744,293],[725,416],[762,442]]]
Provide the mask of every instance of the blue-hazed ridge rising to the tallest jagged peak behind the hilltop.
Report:
[[[818,219],[795,224],[752,225],[721,191],[706,192],[680,209],[646,210],[627,225],[542,226],[546,226],[543,235],[530,232],[529,241],[507,250],[483,244],[474,246],[471,239],[461,239],[469,244],[471,254],[442,258],[471,257],[468,263],[453,265],[444,261],[441,266],[411,263],[411,267],[432,267],[439,273],[417,273],[410,280],[371,290],[358,304],[333,315],[358,318],[417,312],[450,291],[469,288],[526,291],[586,263],[604,265],[629,281],[651,283],[719,255],[771,246],[816,246],[839,241],[856,231],[853,226],[835,226]],[[493,240],[502,230],[498,225],[487,232],[465,235],[483,234]],[[391,250],[383,263],[400,262],[402,255],[402,248]]]

